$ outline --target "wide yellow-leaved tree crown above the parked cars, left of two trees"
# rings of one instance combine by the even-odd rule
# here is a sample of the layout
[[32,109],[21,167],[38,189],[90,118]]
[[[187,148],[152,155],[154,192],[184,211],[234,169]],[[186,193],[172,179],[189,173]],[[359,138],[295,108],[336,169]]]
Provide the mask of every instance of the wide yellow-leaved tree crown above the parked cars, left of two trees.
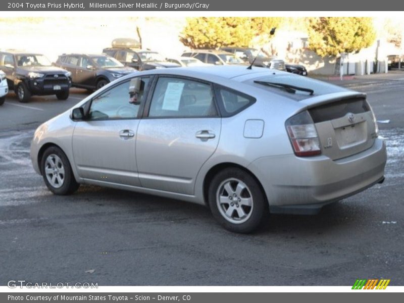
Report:
[[180,41],[191,48],[248,47],[257,35],[268,35],[281,18],[198,17],[187,18]]

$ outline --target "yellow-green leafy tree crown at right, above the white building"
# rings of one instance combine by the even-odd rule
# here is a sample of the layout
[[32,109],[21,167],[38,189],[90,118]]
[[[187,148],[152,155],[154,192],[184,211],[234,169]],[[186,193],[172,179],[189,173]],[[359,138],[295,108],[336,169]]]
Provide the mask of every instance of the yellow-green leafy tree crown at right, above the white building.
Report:
[[309,48],[321,57],[359,52],[375,41],[369,17],[320,17],[309,19]]

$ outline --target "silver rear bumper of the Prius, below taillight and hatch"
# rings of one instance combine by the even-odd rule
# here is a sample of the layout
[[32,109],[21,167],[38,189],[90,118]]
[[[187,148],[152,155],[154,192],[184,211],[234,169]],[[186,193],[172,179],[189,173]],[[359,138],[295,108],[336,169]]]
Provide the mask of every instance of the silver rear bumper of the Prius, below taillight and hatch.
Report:
[[262,180],[273,212],[313,213],[383,180],[386,160],[384,141],[376,139],[371,148],[335,161],[287,155],[256,160],[250,169]]

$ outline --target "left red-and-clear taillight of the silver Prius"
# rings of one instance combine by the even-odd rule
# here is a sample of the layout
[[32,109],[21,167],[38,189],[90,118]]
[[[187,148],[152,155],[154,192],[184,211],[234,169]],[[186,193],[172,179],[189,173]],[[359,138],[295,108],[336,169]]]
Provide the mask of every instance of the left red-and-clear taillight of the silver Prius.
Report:
[[321,154],[319,136],[307,111],[287,119],[285,126],[296,156],[309,157]]

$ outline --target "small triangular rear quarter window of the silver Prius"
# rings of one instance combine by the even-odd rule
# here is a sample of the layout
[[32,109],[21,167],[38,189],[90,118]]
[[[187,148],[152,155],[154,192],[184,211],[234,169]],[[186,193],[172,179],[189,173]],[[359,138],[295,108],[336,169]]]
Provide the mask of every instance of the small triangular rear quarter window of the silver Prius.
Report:
[[219,87],[219,95],[221,98],[219,106],[221,111],[224,112],[223,116],[236,114],[256,101],[255,98],[249,95],[224,87]]

